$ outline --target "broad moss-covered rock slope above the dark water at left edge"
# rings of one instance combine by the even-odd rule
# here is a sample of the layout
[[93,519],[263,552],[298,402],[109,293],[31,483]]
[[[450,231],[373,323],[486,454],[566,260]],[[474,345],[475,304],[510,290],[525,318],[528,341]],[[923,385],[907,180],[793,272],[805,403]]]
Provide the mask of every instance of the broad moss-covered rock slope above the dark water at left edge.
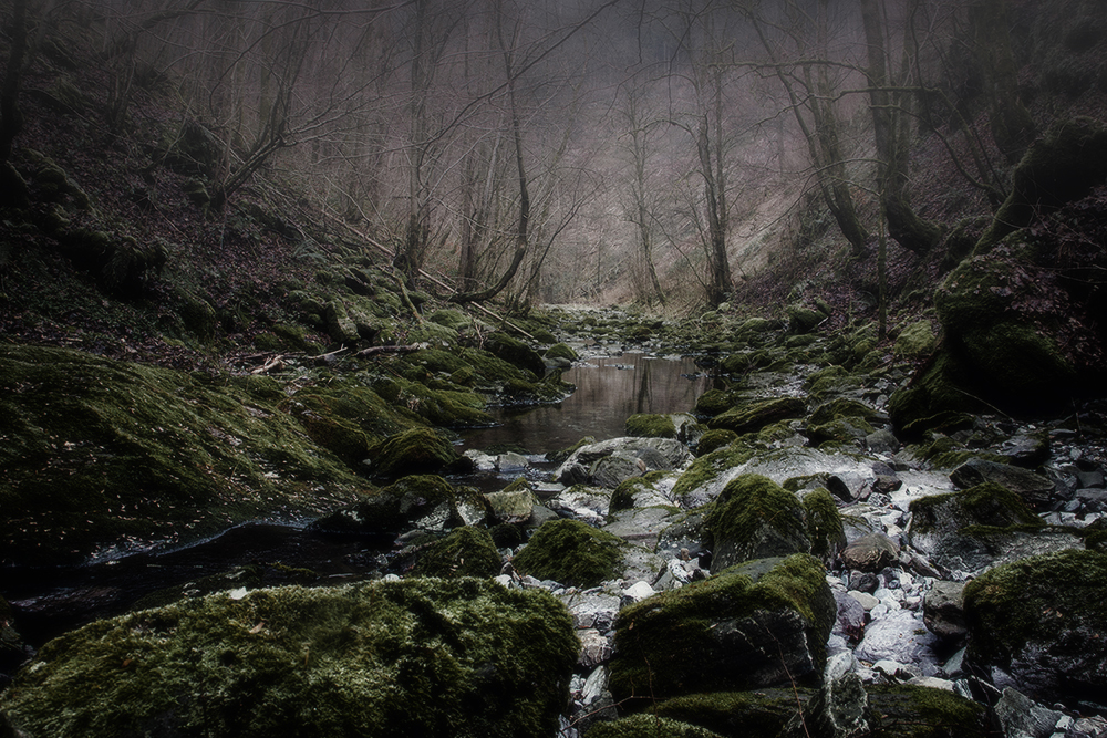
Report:
[[287,399],[267,377],[0,349],[0,561],[79,559],[352,501],[366,485],[304,434]]

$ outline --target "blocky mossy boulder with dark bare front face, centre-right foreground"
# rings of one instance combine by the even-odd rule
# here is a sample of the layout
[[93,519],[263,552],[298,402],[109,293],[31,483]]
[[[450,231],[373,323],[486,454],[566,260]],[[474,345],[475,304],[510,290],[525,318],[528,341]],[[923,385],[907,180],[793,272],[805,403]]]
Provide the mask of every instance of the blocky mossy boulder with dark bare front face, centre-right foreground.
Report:
[[836,613],[813,557],[739,564],[624,607],[611,693],[644,709],[681,695],[815,684]]

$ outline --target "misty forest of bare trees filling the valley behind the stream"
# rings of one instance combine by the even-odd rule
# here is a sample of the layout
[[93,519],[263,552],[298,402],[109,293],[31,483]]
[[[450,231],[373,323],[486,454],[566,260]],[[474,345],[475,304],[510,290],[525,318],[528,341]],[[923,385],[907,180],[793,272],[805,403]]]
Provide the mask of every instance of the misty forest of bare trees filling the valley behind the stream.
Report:
[[17,0],[0,139],[21,86],[84,95],[97,144],[153,152],[134,176],[194,152],[207,218],[296,193],[456,302],[683,312],[832,274],[871,306],[968,252],[1052,123],[1101,112],[1103,11]]

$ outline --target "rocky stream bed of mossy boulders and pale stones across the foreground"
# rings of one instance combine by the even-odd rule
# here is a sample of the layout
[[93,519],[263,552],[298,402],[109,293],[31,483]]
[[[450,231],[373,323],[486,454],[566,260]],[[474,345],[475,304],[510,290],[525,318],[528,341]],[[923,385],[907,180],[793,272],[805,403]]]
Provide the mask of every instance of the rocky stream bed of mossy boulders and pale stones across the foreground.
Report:
[[[679,333],[558,321],[541,366],[499,353],[531,383],[486,395],[556,401],[573,362],[628,349],[690,354],[712,388],[614,437],[459,453],[411,417],[490,419],[474,402],[487,352],[334,364],[330,388],[298,388],[289,366],[172,376],[8,350],[11,397],[48,393],[44,365],[69,363],[68,395],[13,416],[24,456],[51,412],[103,437],[40,439],[22,497],[8,492],[27,511],[3,549],[0,734],[1107,735],[1101,406],[908,433],[897,408],[933,350],[925,322],[883,350],[872,326],[824,334],[799,313]],[[113,372],[130,432],[73,397]],[[209,412],[204,438],[184,430]],[[370,423],[381,440],[355,443]],[[186,444],[204,446],[190,478],[157,468]],[[96,487],[115,464],[145,491],[113,507]],[[81,514],[25,501],[59,475]],[[196,551],[203,565],[182,562]],[[61,619],[43,625],[48,611]]]

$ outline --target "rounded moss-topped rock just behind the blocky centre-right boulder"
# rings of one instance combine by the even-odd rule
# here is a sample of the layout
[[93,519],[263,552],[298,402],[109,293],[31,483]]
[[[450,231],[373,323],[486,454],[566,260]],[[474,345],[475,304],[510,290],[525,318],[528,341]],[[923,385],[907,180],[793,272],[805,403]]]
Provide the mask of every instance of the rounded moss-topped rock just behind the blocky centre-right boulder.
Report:
[[811,550],[799,498],[761,475],[732,479],[705,522],[714,539],[713,573],[751,559]]

